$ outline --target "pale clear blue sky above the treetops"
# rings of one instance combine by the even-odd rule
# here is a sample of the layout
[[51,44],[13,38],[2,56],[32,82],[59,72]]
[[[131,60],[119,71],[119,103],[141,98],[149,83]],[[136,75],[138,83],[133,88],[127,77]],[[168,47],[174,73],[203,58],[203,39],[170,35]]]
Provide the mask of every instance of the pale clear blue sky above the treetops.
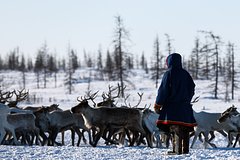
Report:
[[153,54],[157,36],[167,54],[166,33],[182,55],[189,55],[199,30],[238,46],[239,7],[239,0],[0,0],[0,54],[19,47],[35,56],[45,42],[60,56],[68,46],[79,55],[111,51],[116,16],[129,31],[128,52],[138,56]]

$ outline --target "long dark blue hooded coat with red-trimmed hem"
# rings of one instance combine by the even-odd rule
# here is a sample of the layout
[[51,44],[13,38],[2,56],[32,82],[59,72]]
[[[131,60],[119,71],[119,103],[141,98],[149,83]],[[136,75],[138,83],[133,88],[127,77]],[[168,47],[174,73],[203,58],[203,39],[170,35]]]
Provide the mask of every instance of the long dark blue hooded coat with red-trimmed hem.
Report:
[[162,106],[156,123],[158,126],[171,124],[196,126],[191,105],[195,89],[193,79],[182,68],[180,54],[170,54],[167,65],[168,70],[163,75],[156,98],[156,105]]

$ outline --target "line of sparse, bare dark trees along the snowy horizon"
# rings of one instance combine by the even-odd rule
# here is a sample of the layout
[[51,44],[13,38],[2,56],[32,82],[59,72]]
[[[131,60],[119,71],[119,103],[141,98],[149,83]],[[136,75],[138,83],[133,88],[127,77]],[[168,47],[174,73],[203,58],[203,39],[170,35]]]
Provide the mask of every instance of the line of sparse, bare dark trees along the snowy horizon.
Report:
[[[234,99],[234,91],[237,88],[237,68],[235,62],[236,45],[231,42],[223,42],[219,35],[210,31],[198,31],[199,35],[193,42],[192,52],[188,57],[183,57],[183,67],[187,69],[194,79],[211,80],[213,98],[218,98],[219,83],[225,86],[224,99],[229,101]],[[167,69],[165,65],[166,57],[174,52],[172,39],[168,34],[166,46],[160,45],[159,36],[153,41],[153,52],[151,58],[147,59],[144,52],[139,56],[134,56],[128,51],[127,43],[130,42],[129,32],[124,26],[120,16],[115,17],[115,28],[113,36],[113,49],[105,53],[99,48],[94,55],[83,51],[83,57],[79,57],[76,50],[68,47],[67,56],[59,58],[57,53],[51,53],[45,42],[37,50],[35,58],[26,58],[20,53],[19,48],[10,51],[6,57],[0,56],[0,70],[18,70],[22,72],[23,87],[25,87],[25,73],[34,72],[37,80],[37,88],[40,88],[40,78],[44,81],[46,88],[48,75],[55,77],[57,83],[57,73],[64,71],[65,85],[69,93],[73,90],[74,72],[78,68],[92,68],[98,71],[99,80],[119,80],[122,91],[124,83],[132,83],[128,75],[132,69],[143,69],[150,74],[150,78],[155,82],[155,87],[163,72]],[[149,55],[149,53],[147,53]],[[90,82],[90,79],[89,79]],[[134,84],[133,84],[134,85]],[[221,89],[221,94],[223,90]],[[124,93],[121,93],[124,96]]]

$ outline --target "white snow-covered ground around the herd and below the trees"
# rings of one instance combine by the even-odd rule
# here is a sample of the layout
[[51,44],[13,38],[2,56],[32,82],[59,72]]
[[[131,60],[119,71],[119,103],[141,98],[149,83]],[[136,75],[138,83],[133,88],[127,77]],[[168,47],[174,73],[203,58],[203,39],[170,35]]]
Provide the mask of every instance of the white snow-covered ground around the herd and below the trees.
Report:
[[[94,74],[92,74],[94,75]],[[88,77],[89,73],[87,70],[78,70],[75,73],[76,78]],[[140,107],[145,105],[152,108],[155,101],[155,96],[157,89],[155,84],[150,80],[150,75],[145,74],[141,70],[134,70],[129,80],[132,84],[126,84],[126,93],[130,94],[128,102],[134,106],[138,102],[138,92],[143,92],[143,99]],[[4,90],[20,89],[22,88],[21,73],[19,72],[2,72],[0,74],[0,79],[4,78],[4,83],[6,85]],[[43,84],[41,84],[41,89],[37,89],[35,75],[33,73],[27,74],[27,86],[29,89],[30,96],[35,95],[38,99],[35,104],[26,104],[26,102],[20,103],[21,106],[25,105],[49,105],[52,103],[58,103],[62,109],[70,109],[76,105],[77,97],[84,96],[89,84],[86,80],[77,81],[74,84],[74,92],[72,95],[67,94],[66,87],[63,85],[64,74],[59,73],[57,88],[54,87],[54,79],[48,78],[47,89],[43,89]],[[7,82],[6,82],[7,81]],[[193,108],[195,111],[206,111],[206,112],[222,112],[232,104],[239,108],[239,98],[236,91],[236,100],[231,102],[224,102],[222,99],[214,100],[210,97],[212,96],[210,91],[211,82],[205,80],[195,81],[196,83],[196,96],[200,96],[199,102],[195,103]],[[116,86],[117,82],[109,81],[91,81],[90,89],[95,92],[99,91],[96,101],[101,101],[102,92],[108,91],[108,85]],[[224,97],[225,88],[219,86],[219,97]],[[117,105],[121,105],[123,100],[117,100]],[[190,153],[186,155],[167,155],[166,152],[171,149],[161,149],[161,148],[149,148],[147,146],[106,146],[101,140],[97,147],[93,148],[89,144],[84,144],[81,142],[79,147],[71,146],[70,143],[70,132],[66,132],[65,146],[7,146],[0,145],[0,159],[240,159],[240,148],[237,145],[236,148],[226,148],[227,138],[223,137],[219,133],[216,133],[216,138],[213,142],[217,145],[217,149],[208,147],[204,149],[203,144],[197,141],[193,147],[190,149]],[[192,138],[191,138],[192,140]],[[61,141],[60,135],[57,141]],[[191,142],[190,142],[191,143]]]

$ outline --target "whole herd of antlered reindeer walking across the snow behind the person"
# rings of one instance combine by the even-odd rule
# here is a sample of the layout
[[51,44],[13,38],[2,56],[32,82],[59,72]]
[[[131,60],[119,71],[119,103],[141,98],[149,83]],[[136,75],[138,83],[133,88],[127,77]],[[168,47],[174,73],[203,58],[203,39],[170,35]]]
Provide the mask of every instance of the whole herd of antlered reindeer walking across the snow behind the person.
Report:
[[[115,96],[114,92],[117,92]],[[0,143],[65,145],[64,133],[69,130],[73,146],[77,135],[77,146],[83,140],[85,144],[96,147],[102,138],[106,145],[142,144],[148,147],[168,148],[171,133],[164,133],[158,129],[155,122],[159,115],[149,107],[138,107],[143,94],[138,93],[140,98],[135,106],[127,104],[129,95],[124,98],[125,105],[118,106],[115,99],[119,97],[120,92],[119,85],[109,86],[108,92],[102,94],[103,100],[98,103],[95,102],[98,92],[88,92],[77,98],[78,105],[69,110],[62,110],[57,104],[18,107],[18,102],[25,100],[29,94],[26,90],[0,90]],[[223,113],[194,112],[194,117],[198,125],[195,131],[190,133],[193,136],[191,148],[197,139],[202,141],[205,148],[208,145],[216,148],[212,142],[216,131],[228,138],[227,147],[235,147],[239,142],[240,114],[236,107],[232,106]],[[62,142],[57,142],[59,133]]]

